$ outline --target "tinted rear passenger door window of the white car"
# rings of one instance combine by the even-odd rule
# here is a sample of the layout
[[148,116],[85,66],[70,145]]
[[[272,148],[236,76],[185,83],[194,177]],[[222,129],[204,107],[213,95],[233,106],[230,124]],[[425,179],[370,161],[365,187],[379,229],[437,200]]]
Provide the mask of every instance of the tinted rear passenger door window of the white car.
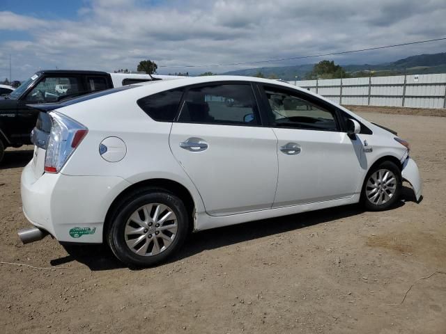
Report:
[[178,122],[259,125],[250,84],[219,84],[187,90]]

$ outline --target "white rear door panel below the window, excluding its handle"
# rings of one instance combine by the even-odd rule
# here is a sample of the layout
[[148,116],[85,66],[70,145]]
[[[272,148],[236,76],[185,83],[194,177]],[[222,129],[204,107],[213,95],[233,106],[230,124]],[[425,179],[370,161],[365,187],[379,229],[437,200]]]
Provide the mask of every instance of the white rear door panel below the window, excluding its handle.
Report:
[[[203,138],[208,149],[191,152],[180,148],[191,137]],[[271,207],[278,173],[277,139],[272,129],[174,123],[170,148],[199,189],[211,216]]]

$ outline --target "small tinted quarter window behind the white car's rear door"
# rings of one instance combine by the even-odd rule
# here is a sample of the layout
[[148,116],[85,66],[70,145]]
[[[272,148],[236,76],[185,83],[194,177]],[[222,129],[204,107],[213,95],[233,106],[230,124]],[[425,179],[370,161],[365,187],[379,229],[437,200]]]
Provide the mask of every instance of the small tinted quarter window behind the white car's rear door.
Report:
[[137,101],[138,106],[144,112],[158,122],[173,122],[178,112],[183,88],[166,90],[143,97]]

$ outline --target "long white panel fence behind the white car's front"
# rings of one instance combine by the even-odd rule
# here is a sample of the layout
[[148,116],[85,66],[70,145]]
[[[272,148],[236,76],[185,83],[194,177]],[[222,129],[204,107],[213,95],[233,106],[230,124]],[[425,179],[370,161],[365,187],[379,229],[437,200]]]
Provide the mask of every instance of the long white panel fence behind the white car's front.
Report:
[[339,104],[446,108],[446,73],[289,81]]

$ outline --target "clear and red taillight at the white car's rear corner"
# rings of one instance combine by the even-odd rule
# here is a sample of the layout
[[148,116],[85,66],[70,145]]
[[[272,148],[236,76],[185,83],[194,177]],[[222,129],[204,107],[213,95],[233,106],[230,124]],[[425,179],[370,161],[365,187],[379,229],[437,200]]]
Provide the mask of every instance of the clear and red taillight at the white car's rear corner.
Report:
[[52,112],[49,116],[52,124],[45,155],[45,172],[59,173],[89,130],[60,113]]

